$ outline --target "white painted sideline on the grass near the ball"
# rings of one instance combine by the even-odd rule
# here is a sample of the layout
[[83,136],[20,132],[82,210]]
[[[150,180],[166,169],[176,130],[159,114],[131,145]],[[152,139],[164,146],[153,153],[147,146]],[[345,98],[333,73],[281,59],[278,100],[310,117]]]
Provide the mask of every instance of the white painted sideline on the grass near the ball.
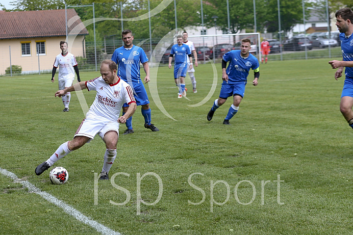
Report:
[[100,223],[88,218],[87,216],[83,215],[81,212],[79,212],[78,210],[76,210],[72,206],[66,204],[65,202],[59,200],[58,198],[52,196],[51,194],[49,194],[45,191],[41,191],[40,189],[38,189],[37,187],[32,185],[29,181],[19,179],[17,177],[17,175],[15,175],[14,173],[12,173],[8,170],[5,170],[3,168],[0,168],[0,173],[2,173],[3,175],[5,175],[7,177],[12,178],[14,180],[14,182],[20,183],[24,188],[28,188],[30,193],[36,193],[36,194],[40,195],[41,197],[43,197],[48,202],[51,202],[51,203],[59,206],[60,208],[62,208],[65,211],[65,213],[69,214],[70,216],[73,216],[75,219],[81,221],[82,223],[85,223],[85,224],[91,226],[92,228],[96,229],[98,232],[100,232],[102,234],[109,234],[109,235],[110,234],[121,235],[121,233],[116,232],[116,231],[104,226],[103,224],[100,224]]

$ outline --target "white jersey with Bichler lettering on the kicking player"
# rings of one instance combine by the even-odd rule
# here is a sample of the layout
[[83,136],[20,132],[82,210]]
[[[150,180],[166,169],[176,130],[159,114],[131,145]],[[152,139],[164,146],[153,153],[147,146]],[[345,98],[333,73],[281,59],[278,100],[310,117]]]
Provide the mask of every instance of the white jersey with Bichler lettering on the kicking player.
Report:
[[106,118],[111,121],[117,121],[120,115],[121,107],[124,103],[135,102],[134,93],[130,85],[122,81],[115,84],[106,84],[102,76],[86,82],[88,91],[97,92],[95,99],[87,112],[87,117]]

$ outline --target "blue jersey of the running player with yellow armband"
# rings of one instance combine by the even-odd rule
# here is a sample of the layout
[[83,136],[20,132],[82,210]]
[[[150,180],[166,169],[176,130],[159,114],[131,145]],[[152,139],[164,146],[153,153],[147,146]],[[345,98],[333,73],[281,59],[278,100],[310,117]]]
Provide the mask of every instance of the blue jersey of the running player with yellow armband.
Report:
[[255,72],[259,71],[258,59],[249,54],[247,58],[243,58],[240,50],[231,50],[223,55],[223,60],[229,62],[226,73],[228,74],[228,82],[223,81],[223,84],[234,84],[238,82],[246,82],[250,68]]

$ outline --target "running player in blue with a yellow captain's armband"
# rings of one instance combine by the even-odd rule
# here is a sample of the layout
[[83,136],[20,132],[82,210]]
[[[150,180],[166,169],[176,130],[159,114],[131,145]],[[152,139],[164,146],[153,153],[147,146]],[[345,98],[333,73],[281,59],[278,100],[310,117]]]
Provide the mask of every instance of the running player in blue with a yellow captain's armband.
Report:
[[[247,81],[247,75],[249,74],[250,68],[254,70],[254,81],[253,85],[258,85],[258,79],[260,76],[259,72],[259,61],[258,59],[249,54],[250,50],[250,39],[244,38],[241,40],[240,50],[231,50],[225,53],[222,58],[222,87],[219,94],[219,98],[213,103],[210,112],[207,114],[207,120],[211,121],[214,112],[218,109],[226,99],[233,95],[233,104],[229,108],[228,114],[226,115],[223,124],[229,125],[229,120],[238,112],[240,102],[244,96],[245,85]],[[226,63],[229,63],[228,68],[225,69]]]

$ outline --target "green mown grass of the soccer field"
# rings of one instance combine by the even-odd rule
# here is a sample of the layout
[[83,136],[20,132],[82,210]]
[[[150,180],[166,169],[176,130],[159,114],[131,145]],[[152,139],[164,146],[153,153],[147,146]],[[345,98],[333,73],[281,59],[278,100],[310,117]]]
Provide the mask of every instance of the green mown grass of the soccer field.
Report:
[[[49,171],[35,175],[84,118],[78,96],[72,93],[70,112],[63,113],[49,74],[0,77],[0,168],[121,234],[349,234],[353,131],[339,111],[343,79],[334,79],[328,61],[269,60],[260,66],[257,87],[250,71],[229,126],[222,121],[230,100],[206,119],[219,95],[220,64],[215,92],[200,106],[212,89],[210,64],[196,68],[198,93],[188,92],[189,100],[177,98],[172,70],[159,68],[158,97],[175,120],[150,96],[160,128],[150,132],[138,107],[135,133],[119,138],[110,177],[125,175],[116,175],[115,185],[94,180],[105,152],[98,136],[54,165],[68,170],[65,185],[52,185]],[[80,75],[85,81],[99,72]],[[83,94],[90,106],[95,92]],[[147,172],[154,175],[142,178]],[[154,203],[159,182],[162,196]],[[0,174],[0,188],[0,234],[100,233],[18,180]]]

